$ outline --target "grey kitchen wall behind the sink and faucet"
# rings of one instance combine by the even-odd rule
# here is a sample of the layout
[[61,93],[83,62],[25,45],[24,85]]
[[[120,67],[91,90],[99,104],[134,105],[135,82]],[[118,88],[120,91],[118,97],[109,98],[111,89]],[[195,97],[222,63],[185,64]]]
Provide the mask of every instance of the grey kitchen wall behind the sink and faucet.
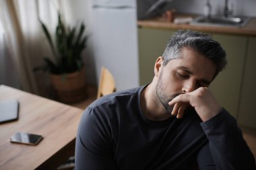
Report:
[[[152,15],[158,15],[166,9],[177,9],[180,13],[194,13],[203,15],[203,5],[207,0],[166,0],[167,3],[160,5],[158,10],[146,15],[146,11],[150,9],[152,4],[157,0],[142,1],[137,0],[138,19],[148,18]],[[210,0],[212,5],[212,15],[223,15],[224,0]],[[241,16],[256,17],[256,1],[255,0],[228,0],[229,7],[233,6],[233,14]]]

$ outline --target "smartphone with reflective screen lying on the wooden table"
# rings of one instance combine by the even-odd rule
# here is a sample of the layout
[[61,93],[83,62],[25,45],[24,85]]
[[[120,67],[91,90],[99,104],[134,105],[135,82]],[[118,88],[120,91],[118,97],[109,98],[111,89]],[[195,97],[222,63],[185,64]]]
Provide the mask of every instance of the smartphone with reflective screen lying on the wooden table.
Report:
[[10,142],[20,144],[36,145],[42,140],[42,136],[39,134],[30,134],[26,132],[16,132],[11,136]]

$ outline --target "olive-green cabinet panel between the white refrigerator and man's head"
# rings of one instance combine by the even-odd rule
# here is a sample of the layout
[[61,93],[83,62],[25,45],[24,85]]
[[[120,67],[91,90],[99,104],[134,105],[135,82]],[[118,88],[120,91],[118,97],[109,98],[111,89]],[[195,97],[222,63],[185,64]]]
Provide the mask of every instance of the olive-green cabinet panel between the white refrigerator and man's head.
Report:
[[162,56],[168,38],[175,30],[139,28],[139,83],[146,85],[154,77],[154,64],[158,56]]

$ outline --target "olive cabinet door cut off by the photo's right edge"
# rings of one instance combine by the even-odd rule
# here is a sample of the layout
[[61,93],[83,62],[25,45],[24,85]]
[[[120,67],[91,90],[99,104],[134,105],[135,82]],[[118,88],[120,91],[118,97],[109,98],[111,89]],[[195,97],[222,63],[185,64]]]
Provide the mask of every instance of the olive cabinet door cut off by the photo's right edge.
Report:
[[238,110],[238,124],[256,130],[256,37],[250,37]]

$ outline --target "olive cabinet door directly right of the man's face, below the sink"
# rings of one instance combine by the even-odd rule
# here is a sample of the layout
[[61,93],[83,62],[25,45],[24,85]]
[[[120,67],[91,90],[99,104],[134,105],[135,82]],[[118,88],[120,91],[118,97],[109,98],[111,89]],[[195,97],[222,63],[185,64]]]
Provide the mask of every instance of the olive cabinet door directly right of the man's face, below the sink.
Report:
[[219,103],[232,116],[237,118],[241,86],[243,83],[247,36],[212,34],[212,38],[220,42],[222,48],[226,50],[228,65],[226,65],[226,69],[220,72],[212,82],[210,89]]

